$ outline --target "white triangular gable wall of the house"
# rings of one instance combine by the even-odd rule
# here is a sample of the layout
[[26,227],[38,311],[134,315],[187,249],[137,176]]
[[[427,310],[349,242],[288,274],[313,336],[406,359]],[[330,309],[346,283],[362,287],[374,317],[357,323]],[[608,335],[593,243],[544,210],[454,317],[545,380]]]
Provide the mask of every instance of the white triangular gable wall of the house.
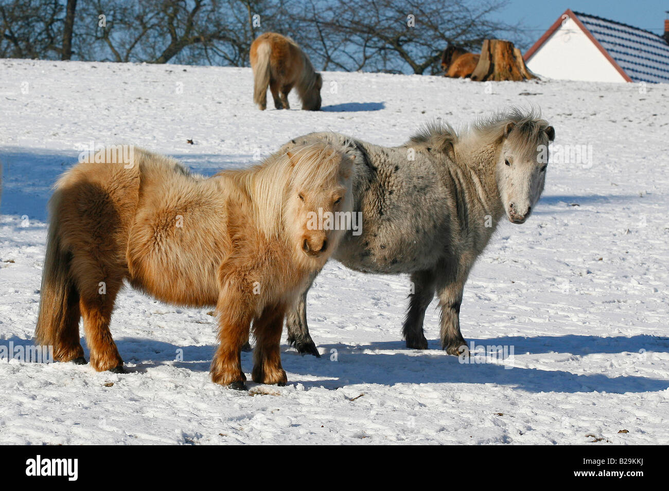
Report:
[[527,67],[560,80],[626,81],[571,17],[533,53]]

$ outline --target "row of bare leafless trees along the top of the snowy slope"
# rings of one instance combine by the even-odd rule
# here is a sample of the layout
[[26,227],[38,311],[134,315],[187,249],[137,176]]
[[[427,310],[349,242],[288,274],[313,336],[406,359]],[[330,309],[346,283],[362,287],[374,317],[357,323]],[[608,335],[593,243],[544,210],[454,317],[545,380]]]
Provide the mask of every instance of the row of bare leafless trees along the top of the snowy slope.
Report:
[[276,31],[321,69],[440,73],[448,43],[508,29],[493,19],[504,1],[0,0],[0,56],[248,66]]

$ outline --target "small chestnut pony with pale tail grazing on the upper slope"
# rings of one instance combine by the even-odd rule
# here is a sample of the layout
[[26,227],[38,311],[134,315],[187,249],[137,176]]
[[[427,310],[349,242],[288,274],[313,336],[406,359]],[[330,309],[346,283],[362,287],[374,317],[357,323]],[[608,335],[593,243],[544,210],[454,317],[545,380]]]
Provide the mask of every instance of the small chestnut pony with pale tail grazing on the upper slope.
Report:
[[323,79],[290,37],[273,32],[256,37],[251,45],[251,67],[254,76],[253,100],[260,110],[267,108],[267,86],[270,86],[277,109],[290,109],[288,93],[295,86],[302,100],[302,109],[320,110]]

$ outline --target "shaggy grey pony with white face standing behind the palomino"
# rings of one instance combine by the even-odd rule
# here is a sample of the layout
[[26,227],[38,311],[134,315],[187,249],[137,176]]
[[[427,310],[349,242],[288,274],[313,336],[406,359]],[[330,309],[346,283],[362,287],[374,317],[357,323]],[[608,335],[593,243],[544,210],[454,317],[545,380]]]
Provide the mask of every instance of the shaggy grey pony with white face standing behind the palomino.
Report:
[[[500,220],[520,224],[530,216],[554,138],[555,130],[538,114],[512,109],[462,132],[432,124],[392,148],[312,133],[279,153],[312,142],[351,140],[353,208],[362,212],[362,233],[347,233],[333,257],[363,273],[411,275],[403,325],[409,348],[427,349],[423,319],[436,293],[442,349],[458,355],[466,349],[460,304],[470,269]],[[306,323],[307,292],[286,318],[288,340],[300,353],[318,356]]]

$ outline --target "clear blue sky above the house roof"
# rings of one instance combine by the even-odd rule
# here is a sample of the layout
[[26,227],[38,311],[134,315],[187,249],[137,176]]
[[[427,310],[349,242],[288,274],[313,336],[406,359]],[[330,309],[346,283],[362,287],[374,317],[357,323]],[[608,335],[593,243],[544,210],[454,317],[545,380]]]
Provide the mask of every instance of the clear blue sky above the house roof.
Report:
[[534,42],[567,9],[662,34],[669,0],[509,0],[506,7],[490,17],[506,23],[522,21],[528,29],[525,34]]

